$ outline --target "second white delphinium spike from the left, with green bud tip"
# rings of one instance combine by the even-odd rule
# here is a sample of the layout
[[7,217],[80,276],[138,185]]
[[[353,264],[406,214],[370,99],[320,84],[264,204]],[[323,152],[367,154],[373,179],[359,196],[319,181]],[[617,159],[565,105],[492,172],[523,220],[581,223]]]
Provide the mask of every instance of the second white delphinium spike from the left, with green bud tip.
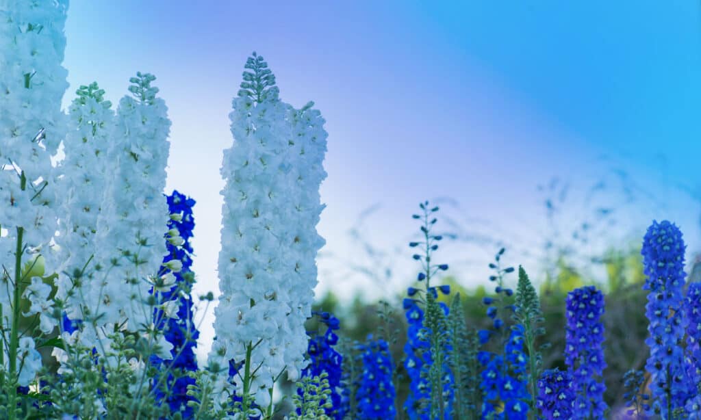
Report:
[[69,108],[69,130],[64,141],[65,158],[57,168],[58,186],[63,192],[59,214],[59,235],[55,238],[60,262],[57,297],[64,300],[71,319],[83,319],[93,308],[86,301],[95,267],[97,216],[104,200],[108,167],[107,148],[114,124],[111,103],[104,90],[91,83],[81,86]]

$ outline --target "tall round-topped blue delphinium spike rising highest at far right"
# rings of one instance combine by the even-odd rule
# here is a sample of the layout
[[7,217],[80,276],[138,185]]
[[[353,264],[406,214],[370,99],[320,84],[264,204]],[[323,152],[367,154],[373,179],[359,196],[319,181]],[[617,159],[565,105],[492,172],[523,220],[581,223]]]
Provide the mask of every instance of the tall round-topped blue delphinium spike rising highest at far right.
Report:
[[[650,347],[646,370],[651,374],[650,390],[654,400],[653,412],[667,418],[667,407],[683,409],[690,391],[683,367],[683,339],[686,320],[679,308],[683,304],[684,251],[681,231],[673,223],[662,221],[648,228],[643,241],[643,286],[649,290],[646,316],[650,321]],[[650,413],[653,414],[653,413]]]

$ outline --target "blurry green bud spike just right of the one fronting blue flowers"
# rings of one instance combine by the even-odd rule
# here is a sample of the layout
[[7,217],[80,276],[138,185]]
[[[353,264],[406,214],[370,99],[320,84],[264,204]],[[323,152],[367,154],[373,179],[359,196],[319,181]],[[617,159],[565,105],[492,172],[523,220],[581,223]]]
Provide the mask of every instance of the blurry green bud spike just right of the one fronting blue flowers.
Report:
[[453,296],[448,314],[448,333],[453,337],[450,368],[455,381],[455,415],[458,419],[479,419],[482,402],[479,400],[479,365],[477,330],[465,323],[465,310],[460,293]]

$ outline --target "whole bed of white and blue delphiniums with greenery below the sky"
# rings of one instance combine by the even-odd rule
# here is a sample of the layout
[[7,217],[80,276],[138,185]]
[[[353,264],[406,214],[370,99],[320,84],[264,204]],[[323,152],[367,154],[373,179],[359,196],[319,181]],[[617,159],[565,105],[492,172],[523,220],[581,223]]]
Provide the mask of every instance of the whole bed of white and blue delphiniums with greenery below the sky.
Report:
[[219,293],[193,293],[193,230],[216,216],[165,193],[158,79],[62,109],[67,13],[0,1],[0,419],[701,419],[701,283],[670,221],[639,232],[638,281],[538,290],[497,248],[477,293],[449,281],[423,201],[395,304],[315,300],[326,121],[256,52],[231,92]]

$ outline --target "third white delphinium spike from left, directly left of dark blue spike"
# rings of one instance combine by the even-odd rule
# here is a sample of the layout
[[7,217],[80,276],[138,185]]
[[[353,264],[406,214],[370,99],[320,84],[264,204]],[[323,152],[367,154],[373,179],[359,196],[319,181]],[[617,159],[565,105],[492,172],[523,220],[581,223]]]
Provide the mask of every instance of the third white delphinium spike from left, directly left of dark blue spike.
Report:
[[89,299],[101,323],[127,321],[132,331],[152,321],[148,280],[161,269],[166,253],[163,233],[168,230],[163,189],[170,120],[165,102],[156,98],[153,80],[151,74],[137,73],[130,79],[133,97],[119,102],[107,156],[115,165],[114,173],[97,219],[101,269]]

